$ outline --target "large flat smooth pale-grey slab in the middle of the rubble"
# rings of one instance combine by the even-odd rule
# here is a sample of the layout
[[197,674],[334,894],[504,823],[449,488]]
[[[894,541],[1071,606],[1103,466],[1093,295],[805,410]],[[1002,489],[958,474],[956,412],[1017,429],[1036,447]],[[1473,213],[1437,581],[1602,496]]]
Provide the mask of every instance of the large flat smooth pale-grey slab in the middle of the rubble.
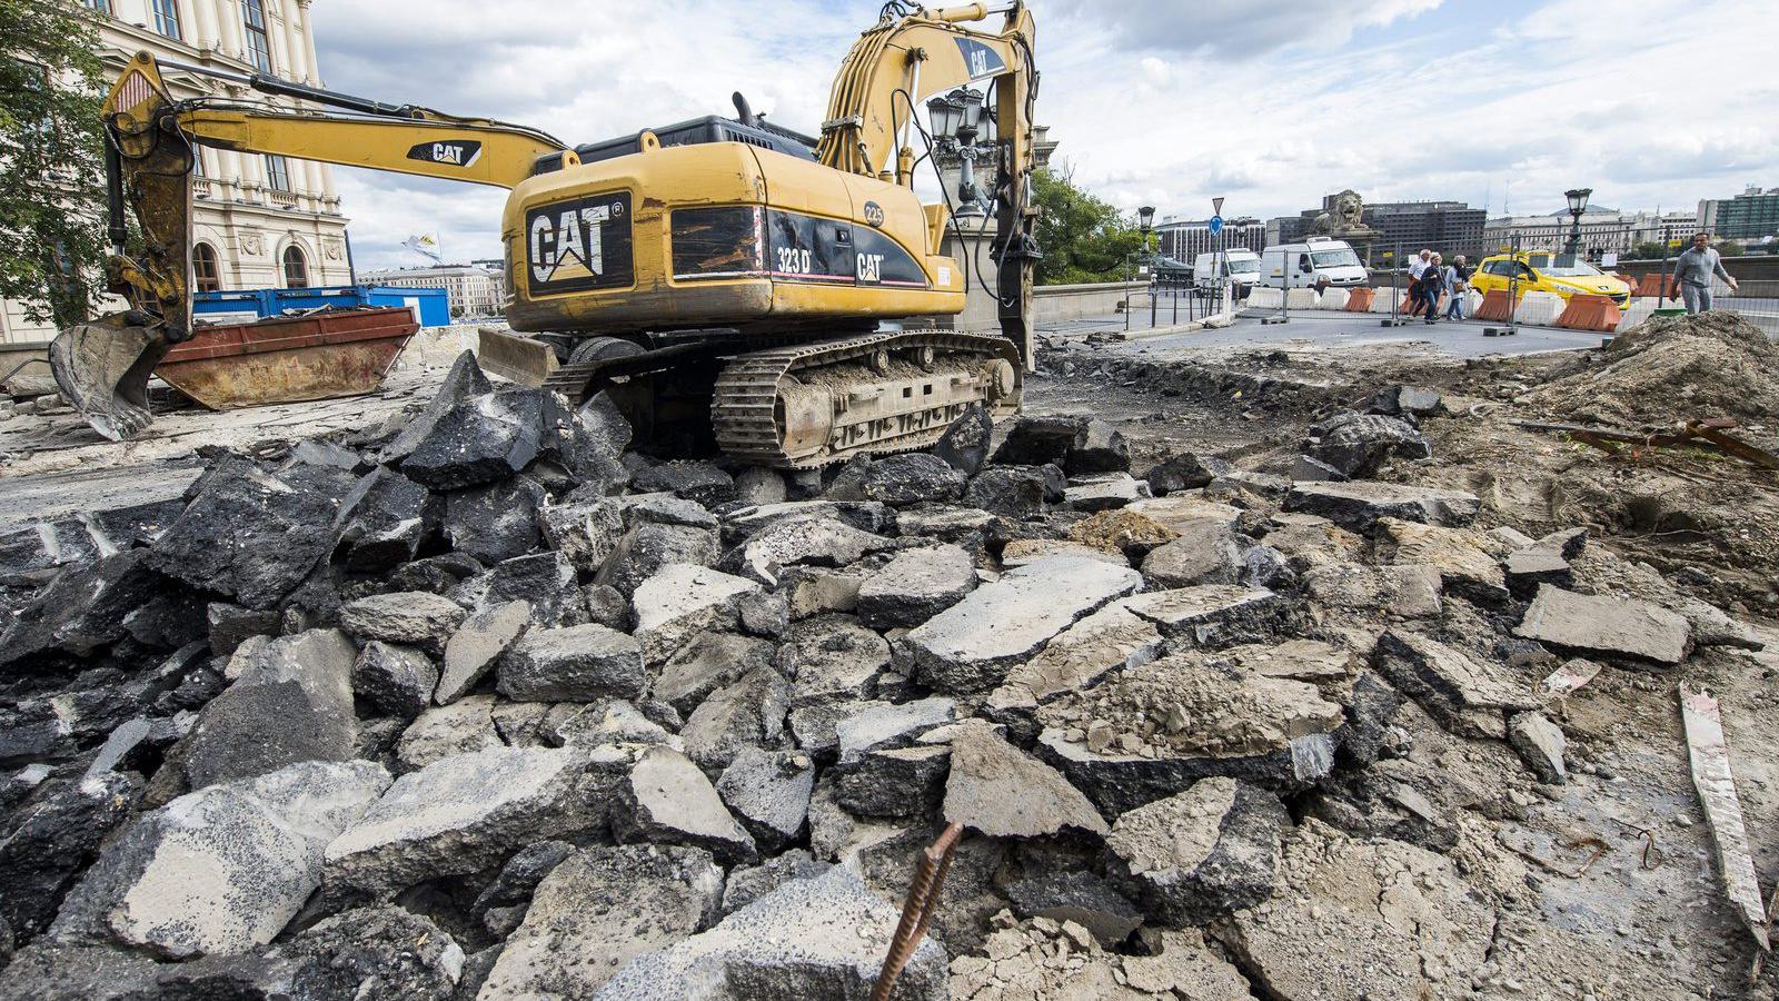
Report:
[[906,643],[920,679],[934,689],[984,693],[1075,620],[1140,586],[1142,575],[1130,566],[1055,556],[977,588]]

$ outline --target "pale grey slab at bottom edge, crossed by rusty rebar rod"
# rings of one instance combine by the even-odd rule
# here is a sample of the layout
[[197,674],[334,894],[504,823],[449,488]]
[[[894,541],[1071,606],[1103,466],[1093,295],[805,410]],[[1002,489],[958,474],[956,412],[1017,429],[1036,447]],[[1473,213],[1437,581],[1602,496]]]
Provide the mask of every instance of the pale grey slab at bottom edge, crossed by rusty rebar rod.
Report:
[[[639,956],[592,1001],[630,997],[866,997],[895,933],[897,907],[834,867],[792,880],[710,932]],[[897,981],[897,997],[948,1001],[945,949],[930,937]]]

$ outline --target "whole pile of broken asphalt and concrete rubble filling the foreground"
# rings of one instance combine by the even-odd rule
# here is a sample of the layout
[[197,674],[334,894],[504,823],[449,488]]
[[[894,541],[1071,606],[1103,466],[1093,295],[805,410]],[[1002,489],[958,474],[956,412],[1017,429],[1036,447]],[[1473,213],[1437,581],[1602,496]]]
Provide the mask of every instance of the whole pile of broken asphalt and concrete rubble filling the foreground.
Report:
[[[865,997],[950,823],[897,997],[1517,996],[1571,932],[1469,807],[1567,778],[1558,679],[1759,641],[1370,479],[1373,410],[1295,479],[980,411],[783,476],[466,354],[4,536],[0,996]],[[1548,996],[1703,996],[1605,956]]]

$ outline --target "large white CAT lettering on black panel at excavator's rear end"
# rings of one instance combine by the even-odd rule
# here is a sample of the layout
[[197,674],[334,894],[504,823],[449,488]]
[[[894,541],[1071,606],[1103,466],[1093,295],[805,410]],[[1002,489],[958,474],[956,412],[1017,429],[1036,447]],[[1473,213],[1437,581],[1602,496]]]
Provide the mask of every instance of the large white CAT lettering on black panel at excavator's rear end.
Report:
[[621,289],[632,281],[630,194],[596,194],[525,214],[534,294]]

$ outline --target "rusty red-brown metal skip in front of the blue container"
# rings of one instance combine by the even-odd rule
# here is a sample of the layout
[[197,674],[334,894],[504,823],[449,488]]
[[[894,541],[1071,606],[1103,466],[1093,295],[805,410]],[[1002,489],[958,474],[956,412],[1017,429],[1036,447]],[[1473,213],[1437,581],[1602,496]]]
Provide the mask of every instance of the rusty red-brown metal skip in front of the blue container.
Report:
[[382,385],[416,330],[406,308],[205,326],[155,374],[210,410],[363,395]]

